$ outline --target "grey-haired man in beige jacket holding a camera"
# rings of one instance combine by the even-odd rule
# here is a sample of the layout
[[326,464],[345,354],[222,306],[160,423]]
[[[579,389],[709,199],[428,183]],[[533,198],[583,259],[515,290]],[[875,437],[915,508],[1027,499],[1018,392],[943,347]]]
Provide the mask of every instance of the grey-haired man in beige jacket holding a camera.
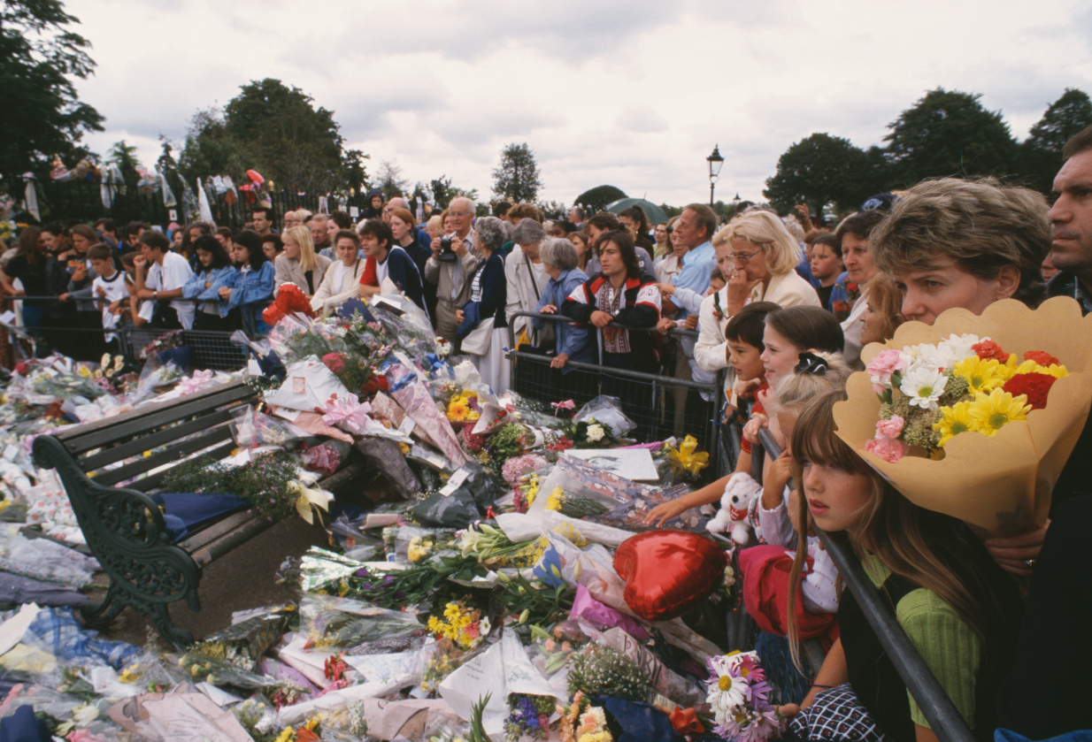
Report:
[[[474,202],[460,196],[448,206],[448,223],[452,231],[434,237],[432,256],[425,263],[425,280],[436,286],[436,334],[454,346],[459,322],[455,311],[470,301],[471,278],[480,260],[474,251],[471,226]],[[450,243],[450,251],[444,243]]]

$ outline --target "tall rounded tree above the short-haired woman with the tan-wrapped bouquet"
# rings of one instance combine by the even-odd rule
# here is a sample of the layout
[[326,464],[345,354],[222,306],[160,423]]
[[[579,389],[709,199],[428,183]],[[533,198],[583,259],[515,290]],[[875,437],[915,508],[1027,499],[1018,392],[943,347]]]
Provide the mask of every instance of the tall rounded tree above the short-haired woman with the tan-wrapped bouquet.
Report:
[[887,157],[895,181],[910,187],[924,178],[1005,175],[1017,144],[1000,112],[987,111],[980,94],[929,91],[892,123]]

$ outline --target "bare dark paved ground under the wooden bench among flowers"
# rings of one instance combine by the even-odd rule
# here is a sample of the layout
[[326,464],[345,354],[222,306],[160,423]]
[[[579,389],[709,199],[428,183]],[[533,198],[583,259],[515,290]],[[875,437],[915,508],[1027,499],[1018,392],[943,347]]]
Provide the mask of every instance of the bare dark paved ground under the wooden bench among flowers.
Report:
[[[206,566],[199,587],[201,611],[194,613],[185,601],[177,602],[170,607],[171,619],[201,638],[230,625],[233,611],[287,600],[289,590],[276,584],[277,567],[286,556],[300,556],[311,546],[327,546],[319,526],[290,518],[270,528]],[[144,617],[126,609],[103,636],[144,645],[149,629]]]

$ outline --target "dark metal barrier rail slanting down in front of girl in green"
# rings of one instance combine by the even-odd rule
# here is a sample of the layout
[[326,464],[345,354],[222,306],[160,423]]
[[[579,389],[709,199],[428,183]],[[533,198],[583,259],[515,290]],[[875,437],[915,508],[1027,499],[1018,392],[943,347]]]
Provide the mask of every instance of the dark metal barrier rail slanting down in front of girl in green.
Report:
[[[762,481],[762,451],[770,456],[781,455],[781,446],[773,440],[773,434],[769,429],[762,428],[759,431],[760,445],[752,447],[753,458],[751,459],[751,470],[757,466],[757,481]],[[834,561],[839,574],[845,581],[846,587],[856,598],[869,625],[876,632],[877,638],[883,645],[883,650],[894,663],[902,682],[906,683],[906,689],[917,702],[922,714],[928,719],[933,732],[940,742],[974,742],[974,734],[966,726],[963,717],[952,704],[951,698],[945,693],[943,687],[937,681],[936,675],[917,654],[917,648],[906,636],[906,632],[899,625],[891,607],[873,585],[865,573],[860,561],[852,551],[845,549],[824,531],[816,529],[823,548]]]

